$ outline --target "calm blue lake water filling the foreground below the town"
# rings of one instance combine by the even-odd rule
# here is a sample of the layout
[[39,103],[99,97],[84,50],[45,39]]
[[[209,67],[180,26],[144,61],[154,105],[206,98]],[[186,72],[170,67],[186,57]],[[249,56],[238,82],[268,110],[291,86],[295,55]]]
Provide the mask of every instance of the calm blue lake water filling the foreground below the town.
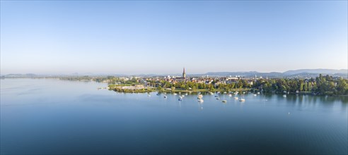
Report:
[[[347,97],[122,94],[1,80],[1,154],[347,154]],[[226,99],[227,103],[221,100]]]

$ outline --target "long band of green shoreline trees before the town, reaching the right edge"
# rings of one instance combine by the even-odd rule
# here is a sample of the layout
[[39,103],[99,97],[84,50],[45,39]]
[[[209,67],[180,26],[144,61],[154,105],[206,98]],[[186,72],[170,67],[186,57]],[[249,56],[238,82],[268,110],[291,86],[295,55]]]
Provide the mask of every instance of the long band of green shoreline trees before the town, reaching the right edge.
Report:
[[[260,79],[253,81],[253,85],[248,80],[237,80],[232,83],[222,83],[219,80],[214,80],[209,84],[204,82],[176,82],[170,83],[166,80],[156,82],[149,80],[149,85],[158,87],[161,89],[209,89],[211,92],[215,89],[224,89],[230,91],[232,89],[250,88],[260,92],[275,92],[275,93],[313,93],[313,94],[348,94],[348,80],[342,77],[334,78],[332,76],[319,75],[319,77],[311,79],[287,79],[287,78],[274,78],[274,79]],[[216,84],[216,85],[215,85]]]

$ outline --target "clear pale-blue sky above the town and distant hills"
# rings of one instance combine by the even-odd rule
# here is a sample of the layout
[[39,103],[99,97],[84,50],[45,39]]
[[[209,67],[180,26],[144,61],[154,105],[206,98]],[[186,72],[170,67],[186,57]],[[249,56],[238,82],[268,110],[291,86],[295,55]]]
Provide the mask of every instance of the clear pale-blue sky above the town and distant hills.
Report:
[[347,69],[347,1],[1,1],[1,74]]

